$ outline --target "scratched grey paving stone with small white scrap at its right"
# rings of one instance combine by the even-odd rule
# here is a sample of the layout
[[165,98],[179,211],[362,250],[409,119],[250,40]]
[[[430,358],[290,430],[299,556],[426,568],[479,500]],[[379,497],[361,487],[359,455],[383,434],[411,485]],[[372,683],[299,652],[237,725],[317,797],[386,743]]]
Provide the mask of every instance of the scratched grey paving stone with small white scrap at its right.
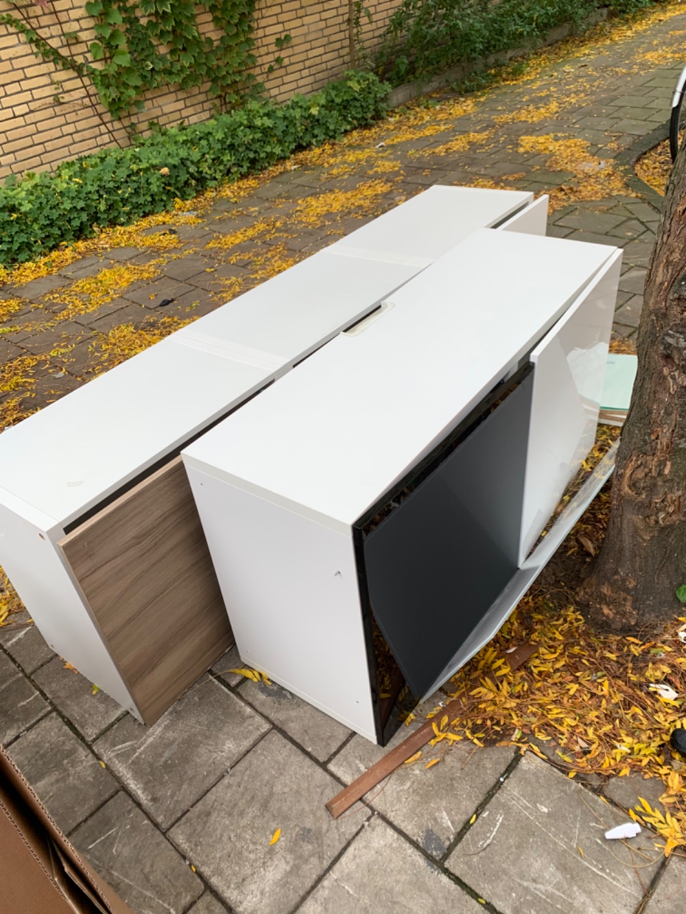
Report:
[[[627,845],[606,841],[606,829],[625,819],[527,755],[446,866],[501,914],[634,914],[643,889],[627,845],[653,860],[655,849],[645,830]],[[640,859],[648,885],[659,861],[644,866]]]

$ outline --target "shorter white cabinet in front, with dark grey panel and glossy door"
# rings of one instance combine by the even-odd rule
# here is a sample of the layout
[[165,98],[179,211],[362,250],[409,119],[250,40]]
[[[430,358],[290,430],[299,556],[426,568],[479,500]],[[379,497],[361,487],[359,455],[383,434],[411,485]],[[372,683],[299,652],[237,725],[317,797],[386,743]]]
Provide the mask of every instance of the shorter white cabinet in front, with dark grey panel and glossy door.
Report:
[[246,664],[382,742],[380,670],[468,659],[592,441],[620,257],[479,230],[184,449]]

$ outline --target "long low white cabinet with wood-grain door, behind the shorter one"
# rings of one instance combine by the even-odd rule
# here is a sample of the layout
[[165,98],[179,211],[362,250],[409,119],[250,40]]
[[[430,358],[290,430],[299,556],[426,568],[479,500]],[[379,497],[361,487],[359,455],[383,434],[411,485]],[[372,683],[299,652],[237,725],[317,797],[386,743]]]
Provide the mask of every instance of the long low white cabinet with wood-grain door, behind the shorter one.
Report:
[[0,565],[53,650],[158,717],[232,641],[180,448],[471,231],[530,206],[432,188],[5,430]]

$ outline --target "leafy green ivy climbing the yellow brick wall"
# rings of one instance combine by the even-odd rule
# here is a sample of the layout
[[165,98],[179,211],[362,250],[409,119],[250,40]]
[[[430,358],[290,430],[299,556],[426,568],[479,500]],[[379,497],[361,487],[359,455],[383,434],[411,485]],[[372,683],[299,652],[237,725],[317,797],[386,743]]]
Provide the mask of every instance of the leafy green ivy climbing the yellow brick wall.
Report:
[[[220,33],[212,39],[200,32],[193,0],[88,0],[85,10],[95,20],[96,39],[81,58],[69,47],[55,48],[26,19],[3,13],[0,23],[19,32],[37,57],[89,77],[105,107],[121,118],[144,110],[145,93],[162,86],[191,89],[207,82],[224,109],[260,90],[251,72],[256,3],[205,0],[203,8]],[[64,37],[68,46],[81,41],[78,32]]]

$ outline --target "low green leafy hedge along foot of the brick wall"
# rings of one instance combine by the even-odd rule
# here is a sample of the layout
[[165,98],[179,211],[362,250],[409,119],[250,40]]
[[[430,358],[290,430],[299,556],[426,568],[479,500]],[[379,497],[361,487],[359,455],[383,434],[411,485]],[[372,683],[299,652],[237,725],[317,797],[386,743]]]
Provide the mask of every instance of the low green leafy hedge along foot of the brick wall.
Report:
[[338,138],[377,119],[388,89],[371,73],[350,71],[307,98],[249,101],[208,122],[156,131],[126,149],[63,162],[53,174],[11,176],[0,187],[0,263],[29,260],[99,227],[130,225],[177,198]]

